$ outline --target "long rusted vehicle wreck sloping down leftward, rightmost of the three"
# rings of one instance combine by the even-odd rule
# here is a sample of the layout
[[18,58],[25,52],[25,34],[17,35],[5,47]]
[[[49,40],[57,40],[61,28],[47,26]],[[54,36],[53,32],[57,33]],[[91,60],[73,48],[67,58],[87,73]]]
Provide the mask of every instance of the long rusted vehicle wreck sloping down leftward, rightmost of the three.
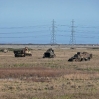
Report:
[[77,52],[73,57],[71,57],[68,61],[88,61],[92,58],[92,54],[87,52]]

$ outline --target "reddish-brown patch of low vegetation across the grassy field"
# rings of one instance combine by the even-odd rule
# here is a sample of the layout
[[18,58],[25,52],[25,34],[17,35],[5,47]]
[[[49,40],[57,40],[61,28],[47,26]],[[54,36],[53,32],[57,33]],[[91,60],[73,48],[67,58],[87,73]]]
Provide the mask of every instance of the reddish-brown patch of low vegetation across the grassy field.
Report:
[[1,79],[20,79],[20,80],[32,80],[35,82],[49,81],[51,77],[62,76],[66,71],[49,69],[43,67],[34,68],[1,68],[0,78]]

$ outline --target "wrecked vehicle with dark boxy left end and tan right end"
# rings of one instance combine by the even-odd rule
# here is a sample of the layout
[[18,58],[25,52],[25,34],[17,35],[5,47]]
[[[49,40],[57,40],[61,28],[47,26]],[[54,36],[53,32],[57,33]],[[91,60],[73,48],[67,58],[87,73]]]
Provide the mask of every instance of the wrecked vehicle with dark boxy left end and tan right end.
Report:
[[25,57],[25,56],[32,56],[31,52],[28,50],[27,47],[24,49],[14,50],[15,57]]

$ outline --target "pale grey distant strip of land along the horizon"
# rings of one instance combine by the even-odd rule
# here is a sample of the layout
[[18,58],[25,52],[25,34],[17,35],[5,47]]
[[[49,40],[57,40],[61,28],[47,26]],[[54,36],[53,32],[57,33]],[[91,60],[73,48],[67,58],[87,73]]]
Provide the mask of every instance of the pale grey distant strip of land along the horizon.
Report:
[[98,44],[0,44],[0,48],[24,48],[46,49],[46,48],[99,48]]

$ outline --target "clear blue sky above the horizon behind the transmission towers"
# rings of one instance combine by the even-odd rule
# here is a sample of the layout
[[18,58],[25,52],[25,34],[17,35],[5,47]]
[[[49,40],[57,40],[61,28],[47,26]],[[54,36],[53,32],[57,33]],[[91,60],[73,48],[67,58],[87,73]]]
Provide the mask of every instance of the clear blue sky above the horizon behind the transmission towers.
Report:
[[99,43],[99,0],[0,0],[0,43]]

